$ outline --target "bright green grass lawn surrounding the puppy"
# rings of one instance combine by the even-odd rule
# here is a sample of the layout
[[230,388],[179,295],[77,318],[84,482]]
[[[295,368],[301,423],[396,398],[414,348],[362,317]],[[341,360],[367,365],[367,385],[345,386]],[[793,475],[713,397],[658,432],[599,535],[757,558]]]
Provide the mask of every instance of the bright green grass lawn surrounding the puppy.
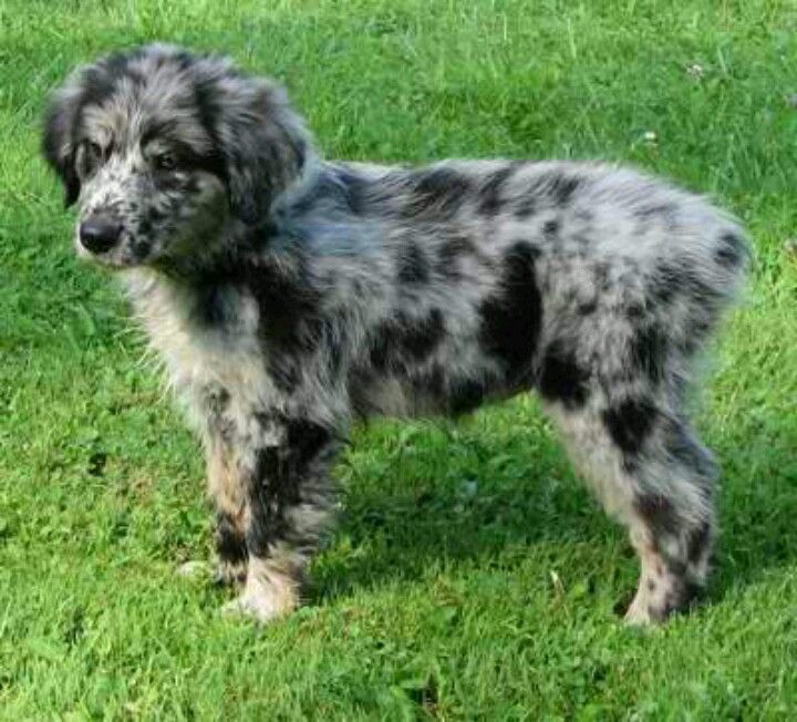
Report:
[[[175,575],[210,555],[200,455],[38,156],[46,91],[153,39],[282,79],[330,156],[622,159],[745,220],[704,608],[623,627],[635,559],[534,399],[359,430],[287,621]],[[795,719],[796,99],[787,0],[0,0],[0,718]]]

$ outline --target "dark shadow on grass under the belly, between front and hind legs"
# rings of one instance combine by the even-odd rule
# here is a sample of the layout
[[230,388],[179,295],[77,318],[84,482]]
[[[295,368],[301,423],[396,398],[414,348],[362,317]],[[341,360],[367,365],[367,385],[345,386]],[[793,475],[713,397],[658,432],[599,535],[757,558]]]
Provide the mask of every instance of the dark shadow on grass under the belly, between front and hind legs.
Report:
[[313,569],[313,601],[417,580],[442,565],[513,568],[539,543],[623,538],[547,431],[482,437],[426,426],[403,451],[375,455],[361,458],[355,445],[345,463],[344,512]]

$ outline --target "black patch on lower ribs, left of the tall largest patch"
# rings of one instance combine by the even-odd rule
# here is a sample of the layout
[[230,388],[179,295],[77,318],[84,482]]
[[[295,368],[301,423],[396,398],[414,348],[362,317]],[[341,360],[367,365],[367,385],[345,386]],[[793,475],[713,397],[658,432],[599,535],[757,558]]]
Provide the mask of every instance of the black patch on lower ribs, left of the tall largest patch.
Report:
[[371,343],[371,363],[381,371],[418,363],[432,354],[444,332],[439,309],[432,309],[422,319],[402,314],[377,329]]

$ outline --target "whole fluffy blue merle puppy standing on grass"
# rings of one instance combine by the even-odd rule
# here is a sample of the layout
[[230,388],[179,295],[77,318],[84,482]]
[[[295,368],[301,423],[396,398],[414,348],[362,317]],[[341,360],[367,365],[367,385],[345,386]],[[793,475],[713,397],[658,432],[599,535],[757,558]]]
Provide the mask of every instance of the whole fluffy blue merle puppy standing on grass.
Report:
[[203,440],[234,610],[298,606],[353,422],[527,391],[629,529],[627,619],[692,604],[717,465],[685,399],[749,267],[732,216],[597,163],[323,161],[279,84],[163,44],[76,70],[44,125],[77,254],[123,281]]

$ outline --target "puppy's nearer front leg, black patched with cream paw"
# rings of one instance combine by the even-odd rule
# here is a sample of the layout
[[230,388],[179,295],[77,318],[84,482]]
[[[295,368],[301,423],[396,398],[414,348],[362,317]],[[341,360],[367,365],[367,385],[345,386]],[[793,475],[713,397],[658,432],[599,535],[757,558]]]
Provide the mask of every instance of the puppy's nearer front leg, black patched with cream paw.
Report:
[[268,621],[293,610],[331,508],[335,435],[308,420],[261,413],[239,455],[248,554],[244,590],[228,609]]

